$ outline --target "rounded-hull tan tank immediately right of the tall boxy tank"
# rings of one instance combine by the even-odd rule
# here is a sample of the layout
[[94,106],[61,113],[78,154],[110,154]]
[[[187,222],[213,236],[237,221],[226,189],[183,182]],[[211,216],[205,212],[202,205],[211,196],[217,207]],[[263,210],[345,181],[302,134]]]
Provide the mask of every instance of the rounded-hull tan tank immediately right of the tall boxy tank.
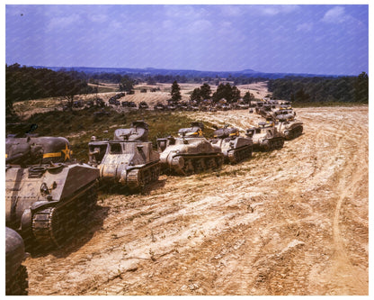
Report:
[[212,145],[204,138],[203,130],[202,123],[191,123],[190,128],[180,129],[176,138],[157,139],[165,172],[188,175],[222,166],[222,151],[218,145]]

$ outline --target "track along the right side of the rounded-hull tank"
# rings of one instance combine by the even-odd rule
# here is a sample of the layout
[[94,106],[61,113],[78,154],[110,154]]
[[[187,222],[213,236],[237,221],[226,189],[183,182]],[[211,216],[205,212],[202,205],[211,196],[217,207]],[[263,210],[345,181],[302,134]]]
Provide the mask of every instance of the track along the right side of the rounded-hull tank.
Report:
[[[172,170],[178,175],[191,175],[204,172],[209,169],[221,168],[224,162],[223,156],[218,155],[207,155],[207,156],[179,156],[174,159],[183,159],[183,168],[179,168],[178,165],[171,166]],[[174,161],[173,159],[173,161]]]

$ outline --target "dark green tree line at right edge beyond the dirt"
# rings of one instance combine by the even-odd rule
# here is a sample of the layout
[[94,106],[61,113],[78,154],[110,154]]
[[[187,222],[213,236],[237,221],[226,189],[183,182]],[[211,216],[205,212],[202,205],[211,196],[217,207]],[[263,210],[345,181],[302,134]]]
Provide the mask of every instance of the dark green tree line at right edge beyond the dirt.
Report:
[[295,103],[369,103],[369,77],[284,77],[268,82],[274,98]]

